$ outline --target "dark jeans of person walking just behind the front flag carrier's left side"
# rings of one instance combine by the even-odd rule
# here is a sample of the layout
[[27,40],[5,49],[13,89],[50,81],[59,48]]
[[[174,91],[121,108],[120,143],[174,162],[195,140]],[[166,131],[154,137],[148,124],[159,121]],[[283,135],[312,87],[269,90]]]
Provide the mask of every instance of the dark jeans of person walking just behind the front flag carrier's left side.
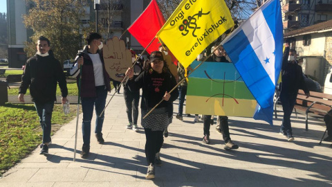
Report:
[[137,125],[138,103],[140,102],[140,92],[131,92],[127,87],[123,88],[124,102],[127,107],[127,116],[129,123]]

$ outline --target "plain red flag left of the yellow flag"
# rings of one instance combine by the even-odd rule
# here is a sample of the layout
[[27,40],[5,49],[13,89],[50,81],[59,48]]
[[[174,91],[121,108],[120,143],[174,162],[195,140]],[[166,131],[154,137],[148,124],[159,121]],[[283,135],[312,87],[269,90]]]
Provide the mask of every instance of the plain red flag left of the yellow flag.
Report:
[[[164,24],[165,18],[160,12],[156,0],[152,0],[140,17],[131,24],[128,31],[144,48],[146,48],[151,40],[156,37],[156,33],[158,33]],[[152,51],[158,51],[159,46],[160,43],[158,39],[154,39],[154,42],[152,42],[147,48],[147,52],[151,53]]]

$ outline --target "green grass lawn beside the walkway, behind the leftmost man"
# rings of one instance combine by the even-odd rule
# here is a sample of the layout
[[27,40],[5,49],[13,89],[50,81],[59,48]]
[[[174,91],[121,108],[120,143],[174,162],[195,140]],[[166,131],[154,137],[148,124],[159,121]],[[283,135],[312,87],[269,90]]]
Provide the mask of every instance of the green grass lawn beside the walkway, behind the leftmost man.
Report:
[[[52,124],[63,125],[75,118],[77,108],[70,107],[65,115],[62,105],[54,105]],[[0,176],[42,143],[42,130],[34,105],[0,106]],[[59,125],[55,125],[59,127]],[[53,125],[52,134],[55,131]]]

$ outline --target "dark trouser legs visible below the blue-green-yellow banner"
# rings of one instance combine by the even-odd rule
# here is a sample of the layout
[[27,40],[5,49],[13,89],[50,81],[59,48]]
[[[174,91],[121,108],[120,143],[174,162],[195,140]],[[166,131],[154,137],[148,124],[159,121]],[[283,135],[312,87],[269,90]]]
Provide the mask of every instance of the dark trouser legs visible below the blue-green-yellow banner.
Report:
[[[223,140],[225,143],[230,141],[230,129],[228,127],[228,117],[227,116],[218,116],[220,121],[220,130],[223,132]],[[204,136],[210,136],[210,125],[211,125],[211,115],[204,115]]]

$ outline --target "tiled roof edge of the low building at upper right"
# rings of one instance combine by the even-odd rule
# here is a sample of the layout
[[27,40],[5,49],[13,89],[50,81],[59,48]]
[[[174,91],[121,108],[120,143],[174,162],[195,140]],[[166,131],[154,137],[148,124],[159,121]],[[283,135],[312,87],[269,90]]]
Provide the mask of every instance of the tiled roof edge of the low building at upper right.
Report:
[[284,33],[284,37],[291,37],[293,35],[302,35],[304,33],[311,33],[311,32],[317,32],[322,30],[329,30],[332,28],[332,19],[329,21],[324,21],[319,24],[315,24],[312,26],[307,26],[304,28],[299,28],[297,30],[292,30],[291,32]]

